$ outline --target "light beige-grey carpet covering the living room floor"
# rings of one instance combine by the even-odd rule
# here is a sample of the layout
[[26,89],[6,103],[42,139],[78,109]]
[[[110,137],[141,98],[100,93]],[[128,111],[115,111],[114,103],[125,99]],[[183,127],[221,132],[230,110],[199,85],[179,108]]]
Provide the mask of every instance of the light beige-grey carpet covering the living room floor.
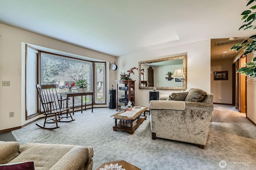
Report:
[[115,109],[93,110],[94,113],[76,112],[76,121],[60,123],[55,130],[44,130],[33,123],[12,134],[20,144],[92,146],[94,170],[114,160],[125,160],[142,170],[216,170],[225,165],[223,169],[256,169],[256,127],[232,106],[214,105],[204,150],[183,142],[152,140],[148,114],[148,119],[130,135],[113,131],[114,119],[110,116],[116,113]]

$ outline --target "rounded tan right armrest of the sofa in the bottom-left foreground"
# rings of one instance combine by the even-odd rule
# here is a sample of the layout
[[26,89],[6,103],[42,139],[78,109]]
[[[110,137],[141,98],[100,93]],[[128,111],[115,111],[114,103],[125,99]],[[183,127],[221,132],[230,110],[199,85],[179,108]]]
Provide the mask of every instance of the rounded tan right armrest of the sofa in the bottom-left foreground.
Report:
[[88,159],[88,148],[76,146],[68,151],[50,170],[80,170]]

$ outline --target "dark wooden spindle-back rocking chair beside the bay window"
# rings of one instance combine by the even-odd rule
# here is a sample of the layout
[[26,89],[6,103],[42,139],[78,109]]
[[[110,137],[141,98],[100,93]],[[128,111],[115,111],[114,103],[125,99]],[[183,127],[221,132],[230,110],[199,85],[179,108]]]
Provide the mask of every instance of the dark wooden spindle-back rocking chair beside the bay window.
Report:
[[[68,108],[69,98],[60,100],[58,98],[58,93],[57,93],[55,84],[36,85],[36,88],[38,90],[38,94],[39,94],[40,101],[42,103],[42,107],[44,109],[44,115],[45,115],[44,126],[36,124],[38,127],[44,128],[44,129],[55,129],[55,128],[59,128],[58,122],[71,122],[75,120],[72,118],[72,115]],[[60,105],[60,102],[62,103],[62,105]],[[65,113],[66,113],[66,116],[62,116]],[[52,117],[53,115],[54,115],[54,118],[47,119],[48,117]],[[62,119],[64,118],[68,120],[62,121]],[[45,126],[46,123],[56,123],[56,127],[46,127]]]

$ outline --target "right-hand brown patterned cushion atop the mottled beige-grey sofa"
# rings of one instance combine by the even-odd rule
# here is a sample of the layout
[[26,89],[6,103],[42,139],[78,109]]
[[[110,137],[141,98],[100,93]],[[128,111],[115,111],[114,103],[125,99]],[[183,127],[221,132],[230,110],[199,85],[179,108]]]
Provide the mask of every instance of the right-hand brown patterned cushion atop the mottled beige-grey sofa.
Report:
[[185,101],[202,102],[207,93],[202,89],[192,89],[189,91]]

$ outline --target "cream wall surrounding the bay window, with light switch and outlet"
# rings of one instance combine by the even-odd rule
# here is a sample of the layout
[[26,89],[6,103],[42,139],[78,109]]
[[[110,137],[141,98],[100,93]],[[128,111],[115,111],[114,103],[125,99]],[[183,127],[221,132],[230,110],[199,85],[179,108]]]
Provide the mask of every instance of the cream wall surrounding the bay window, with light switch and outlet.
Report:
[[[10,87],[0,86],[0,130],[20,127],[38,118],[25,120],[25,43],[108,62],[116,60],[110,55],[0,24],[0,80],[10,81]],[[109,71],[109,63],[106,67],[106,89],[110,89],[115,85],[116,72]],[[108,106],[108,101],[104,106]],[[10,118],[9,112],[14,112],[14,117]]]

